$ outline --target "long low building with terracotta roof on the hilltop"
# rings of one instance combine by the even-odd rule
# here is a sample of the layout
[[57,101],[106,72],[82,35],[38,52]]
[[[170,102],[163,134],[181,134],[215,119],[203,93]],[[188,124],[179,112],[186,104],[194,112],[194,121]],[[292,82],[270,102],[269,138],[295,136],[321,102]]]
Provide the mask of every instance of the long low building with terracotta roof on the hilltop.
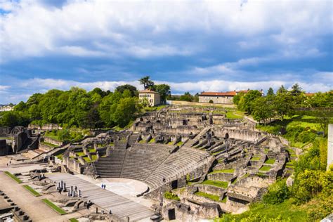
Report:
[[233,104],[233,97],[240,93],[248,93],[249,90],[228,92],[202,92],[199,95],[199,103]]

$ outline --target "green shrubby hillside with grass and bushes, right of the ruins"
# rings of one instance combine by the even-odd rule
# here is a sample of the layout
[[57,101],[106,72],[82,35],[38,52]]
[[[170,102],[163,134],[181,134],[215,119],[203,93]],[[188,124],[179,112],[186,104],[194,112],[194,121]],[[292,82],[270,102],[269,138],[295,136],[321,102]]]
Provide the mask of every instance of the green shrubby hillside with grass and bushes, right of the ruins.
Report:
[[[301,155],[293,153],[295,160],[287,163],[294,171],[292,179],[281,178],[271,185],[263,200],[252,204],[249,211],[224,214],[216,221],[320,221],[331,214],[333,167],[326,171],[327,132],[325,136],[318,133],[322,130],[318,117],[295,115],[257,128],[277,134],[282,131],[289,145],[301,151]],[[293,183],[287,186],[286,181]]]

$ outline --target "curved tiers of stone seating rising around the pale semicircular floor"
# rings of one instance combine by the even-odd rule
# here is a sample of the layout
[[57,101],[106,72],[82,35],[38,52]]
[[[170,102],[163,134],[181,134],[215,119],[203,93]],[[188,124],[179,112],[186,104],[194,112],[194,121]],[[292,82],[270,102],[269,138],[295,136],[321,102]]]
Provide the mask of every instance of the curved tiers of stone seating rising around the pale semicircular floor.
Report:
[[93,162],[95,174],[100,178],[131,178],[143,181],[150,189],[159,187],[174,176],[185,175],[209,154],[193,148],[182,147],[170,154],[170,145],[133,143],[126,149],[115,145],[107,157]]

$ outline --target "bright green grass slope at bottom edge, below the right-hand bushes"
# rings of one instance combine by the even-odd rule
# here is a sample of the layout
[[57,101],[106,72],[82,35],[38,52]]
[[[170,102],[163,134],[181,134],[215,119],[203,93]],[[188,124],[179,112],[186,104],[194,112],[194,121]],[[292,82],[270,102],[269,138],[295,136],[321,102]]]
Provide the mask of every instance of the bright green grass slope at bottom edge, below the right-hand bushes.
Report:
[[[265,217],[265,218],[264,218]],[[277,218],[280,220],[276,220]],[[243,214],[223,214],[215,221],[308,221],[306,211],[294,206],[291,201],[282,202],[281,204],[251,204],[249,211]]]

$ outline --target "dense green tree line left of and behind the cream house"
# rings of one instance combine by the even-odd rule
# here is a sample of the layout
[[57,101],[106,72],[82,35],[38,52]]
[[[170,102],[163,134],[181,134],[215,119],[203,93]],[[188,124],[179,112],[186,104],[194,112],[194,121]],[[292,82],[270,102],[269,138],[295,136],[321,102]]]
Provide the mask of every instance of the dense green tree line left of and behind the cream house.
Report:
[[[147,89],[149,86],[160,93],[162,103],[170,92],[166,84],[155,85],[149,77],[139,79]],[[138,103],[138,90],[125,84],[115,91],[95,88],[86,91],[72,87],[68,91],[51,89],[46,93],[34,93],[30,98],[10,112],[0,113],[0,126],[27,126],[28,124],[59,124],[63,127],[96,129],[104,127],[124,127],[137,115],[145,104]]]

